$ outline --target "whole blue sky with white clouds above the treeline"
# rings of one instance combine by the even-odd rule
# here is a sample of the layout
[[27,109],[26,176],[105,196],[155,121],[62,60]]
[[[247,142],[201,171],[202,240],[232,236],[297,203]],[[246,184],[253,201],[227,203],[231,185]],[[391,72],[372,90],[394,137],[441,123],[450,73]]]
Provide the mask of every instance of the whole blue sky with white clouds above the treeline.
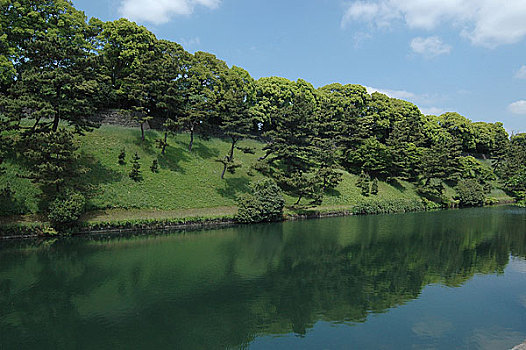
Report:
[[526,132],[525,0],[73,0],[254,78],[367,86]]

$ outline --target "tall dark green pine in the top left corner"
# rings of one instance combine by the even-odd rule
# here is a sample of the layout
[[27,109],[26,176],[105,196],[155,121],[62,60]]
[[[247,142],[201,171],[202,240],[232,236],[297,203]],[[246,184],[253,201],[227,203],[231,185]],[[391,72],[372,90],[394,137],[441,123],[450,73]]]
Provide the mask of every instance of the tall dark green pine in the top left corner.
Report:
[[65,0],[6,0],[0,11],[16,69],[6,114],[34,120],[31,132],[56,132],[61,121],[90,130],[100,77],[84,14]]

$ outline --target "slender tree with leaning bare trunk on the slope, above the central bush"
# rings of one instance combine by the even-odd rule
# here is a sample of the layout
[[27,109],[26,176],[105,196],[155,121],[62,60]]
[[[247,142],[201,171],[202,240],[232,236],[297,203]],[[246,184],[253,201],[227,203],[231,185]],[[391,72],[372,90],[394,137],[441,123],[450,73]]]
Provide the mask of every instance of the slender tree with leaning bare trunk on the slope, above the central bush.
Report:
[[242,68],[232,67],[224,76],[221,100],[222,118],[220,128],[231,140],[230,151],[225,156],[221,179],[229,166],[234,165],[237,143],[247,137],[253,126],[251,109],[255,102],[254,79]]

